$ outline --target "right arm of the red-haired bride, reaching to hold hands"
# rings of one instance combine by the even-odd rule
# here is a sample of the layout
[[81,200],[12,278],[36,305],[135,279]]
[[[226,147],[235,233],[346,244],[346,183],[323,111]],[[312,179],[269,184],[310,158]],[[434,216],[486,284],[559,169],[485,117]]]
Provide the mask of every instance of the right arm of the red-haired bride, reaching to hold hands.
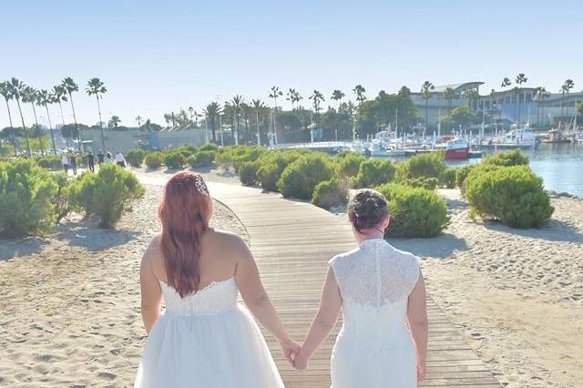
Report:
[[253,313],[253,316],[275,336],[280,343],[285,358],[292,362],[292,358],[300,350],[300,346],[292,341],[292,338],[283,328],[277,311],[271,304],[267,291],[263,288],[257,264],[247,244],[239,239],[237,243],[240,255],[237,271],[235,272],[235,281],[237,281],[240,295]]

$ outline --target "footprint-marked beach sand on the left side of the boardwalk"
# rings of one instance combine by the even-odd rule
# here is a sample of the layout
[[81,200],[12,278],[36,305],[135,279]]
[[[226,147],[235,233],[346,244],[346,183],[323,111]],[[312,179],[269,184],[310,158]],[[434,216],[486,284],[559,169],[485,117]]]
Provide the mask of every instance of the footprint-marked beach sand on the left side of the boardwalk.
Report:
[[[0,386],[131,386],[146,341],[139,261],[161,193],[148,185],[116,230],[74,216],[46,238],[0,240]],[[217,202],[211,225],[248,240]]]

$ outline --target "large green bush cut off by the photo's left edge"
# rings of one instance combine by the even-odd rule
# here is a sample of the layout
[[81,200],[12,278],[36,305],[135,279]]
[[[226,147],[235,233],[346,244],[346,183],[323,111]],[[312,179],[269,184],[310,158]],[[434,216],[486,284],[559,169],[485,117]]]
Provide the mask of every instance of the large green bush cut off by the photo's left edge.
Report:
[[43,235],[56,222],[56,178],[27,159],[0,162],[0,231]]

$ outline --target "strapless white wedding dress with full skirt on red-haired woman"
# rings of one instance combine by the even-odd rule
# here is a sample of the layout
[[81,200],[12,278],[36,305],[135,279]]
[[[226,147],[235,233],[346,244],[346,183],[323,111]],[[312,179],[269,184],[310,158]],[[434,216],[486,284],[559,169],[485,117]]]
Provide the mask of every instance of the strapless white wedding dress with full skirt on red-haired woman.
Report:
[[149,332],[134,387],[278,388],[280,373],[234,278],[181,299],[160,281],[166,310]]

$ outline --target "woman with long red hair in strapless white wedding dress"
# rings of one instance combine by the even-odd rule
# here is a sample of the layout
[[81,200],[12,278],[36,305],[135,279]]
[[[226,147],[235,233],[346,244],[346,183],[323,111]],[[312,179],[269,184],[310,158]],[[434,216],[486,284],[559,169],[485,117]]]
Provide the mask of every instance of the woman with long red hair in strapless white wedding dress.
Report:
[[[251,313],[292,362],[287,334],[240,237],[209,227],[212,199],[199,174],[182,171],[159,206],[162,232],[140,266],[148,342],[135,387],[283,387]],[[161,302],[166,306],[161,311]]]

